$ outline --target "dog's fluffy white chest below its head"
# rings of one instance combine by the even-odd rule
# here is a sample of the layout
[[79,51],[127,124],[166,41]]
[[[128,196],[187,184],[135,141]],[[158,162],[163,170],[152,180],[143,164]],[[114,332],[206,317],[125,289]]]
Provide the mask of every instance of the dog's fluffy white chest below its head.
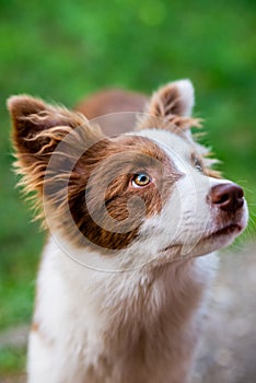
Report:
[[53,242],[46,246],[35,321],[49,339],[53,368],[62,381],[160,383],[171,379],[163,373],[175,371],[183,382],[183,361],[191,358],[197,340],[201,315],[195,305],[203,283],[186,270],[178,292],[167,267],[153,282],[135,274],[93,274],[59,252]]

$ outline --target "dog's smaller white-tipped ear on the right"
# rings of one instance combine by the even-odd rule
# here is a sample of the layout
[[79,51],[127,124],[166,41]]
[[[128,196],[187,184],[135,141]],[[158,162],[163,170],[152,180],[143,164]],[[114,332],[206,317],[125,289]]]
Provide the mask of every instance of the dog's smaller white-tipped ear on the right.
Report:
[[194,86],[189,80],[179,80],[161,86],[153,93],[138,129],[167,129],[167,125],[175,125],[182,129],[198,126],[199,121],[191,118],[195,103]]

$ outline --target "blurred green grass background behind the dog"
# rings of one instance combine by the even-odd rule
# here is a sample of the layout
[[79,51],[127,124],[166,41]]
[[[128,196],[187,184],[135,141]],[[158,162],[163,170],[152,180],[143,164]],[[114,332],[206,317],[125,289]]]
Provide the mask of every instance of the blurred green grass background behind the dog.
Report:
[[[28,323],[44,235],[11,172],[5,100],[30,93],[71,107],[106,86],[151,92],[190,78],[196,115],[256,211],[256,2],[0,0],[0,329]],[[246,241],[255,232],[244,234]],[[0,376],[23,365],[0,350]]]

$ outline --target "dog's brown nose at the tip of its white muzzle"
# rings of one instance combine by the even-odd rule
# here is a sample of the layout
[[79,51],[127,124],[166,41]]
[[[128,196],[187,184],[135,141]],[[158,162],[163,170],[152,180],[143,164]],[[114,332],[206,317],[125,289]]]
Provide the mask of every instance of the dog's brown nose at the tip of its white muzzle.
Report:
[[236,184],[220,184],[211,188],[210,201],[221,210],[235,212],[244,205],[244,192]]

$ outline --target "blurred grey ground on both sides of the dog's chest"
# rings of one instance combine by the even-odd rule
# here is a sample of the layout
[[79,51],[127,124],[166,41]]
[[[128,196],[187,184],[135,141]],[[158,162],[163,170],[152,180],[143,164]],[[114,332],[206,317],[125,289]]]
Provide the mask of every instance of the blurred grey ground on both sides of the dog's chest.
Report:
[[[9,332],[5,338],[0,337],[0,346],[21,346],[26,333],[27,326]],[[0,378],[0,383],[24,382],[22,376]],[[221,253],[189,383],[256,383],[256,243]]]

